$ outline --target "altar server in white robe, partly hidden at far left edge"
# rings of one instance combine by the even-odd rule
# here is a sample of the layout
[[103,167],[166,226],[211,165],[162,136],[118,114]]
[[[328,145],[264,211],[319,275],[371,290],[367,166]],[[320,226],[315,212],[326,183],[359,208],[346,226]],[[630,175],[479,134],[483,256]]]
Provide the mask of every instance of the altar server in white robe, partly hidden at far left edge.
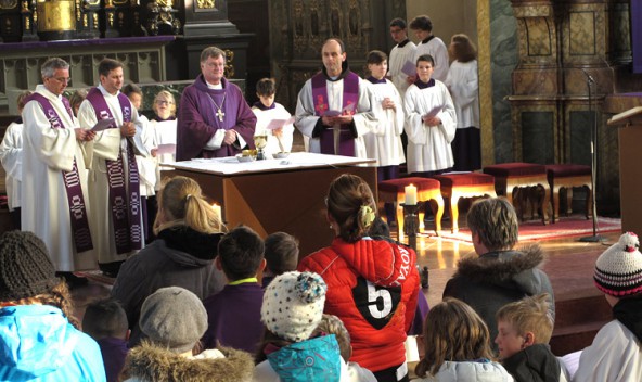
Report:
[[[22,115],[25,101],[30,91],[22,92],[17,99],[17,112]],[[21,229],[21,183],[23,178],[23,118],[22,116],[9,124],[0,143],[0,162],[4,168],[4,187],[9,213],[15,229]]]

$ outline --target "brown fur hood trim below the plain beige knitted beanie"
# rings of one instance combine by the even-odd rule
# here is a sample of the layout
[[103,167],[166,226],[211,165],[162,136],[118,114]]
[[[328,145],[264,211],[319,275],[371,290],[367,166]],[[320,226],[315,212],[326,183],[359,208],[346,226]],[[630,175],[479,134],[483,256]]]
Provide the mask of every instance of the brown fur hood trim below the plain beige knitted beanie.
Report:
[[[132,348],[125,361],[125,381],[154,382],[242,382],[252,381],[254,359],[246,352],[229,347],[205,351],[185,358],[143,342]],[[218,354],[218,357],[217,357]]]

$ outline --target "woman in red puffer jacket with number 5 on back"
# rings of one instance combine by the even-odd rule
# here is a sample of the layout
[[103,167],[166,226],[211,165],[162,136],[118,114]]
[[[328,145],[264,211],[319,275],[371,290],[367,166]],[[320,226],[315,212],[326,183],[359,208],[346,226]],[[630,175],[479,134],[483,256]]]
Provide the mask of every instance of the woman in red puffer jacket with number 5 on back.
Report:
[[304,258],[298,269],[325,280],[324,313],[341,318],[348,329],[350,361],[371,370],[380,382],[408,381],[403,342],[419,293],[414,251],[368,235],[376,204],[358,176],[336,178],[326,201],[328,221],[336,238]]

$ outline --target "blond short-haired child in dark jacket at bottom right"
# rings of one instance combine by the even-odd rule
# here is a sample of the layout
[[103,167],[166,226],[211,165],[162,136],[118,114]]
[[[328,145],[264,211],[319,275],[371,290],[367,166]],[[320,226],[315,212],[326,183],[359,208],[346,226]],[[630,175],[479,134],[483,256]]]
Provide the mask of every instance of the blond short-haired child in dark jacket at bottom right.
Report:
[[497,313],[499,358],[515,381],[566,382],[565,370],[551,352],[553,317],[547,293],[504,305]]

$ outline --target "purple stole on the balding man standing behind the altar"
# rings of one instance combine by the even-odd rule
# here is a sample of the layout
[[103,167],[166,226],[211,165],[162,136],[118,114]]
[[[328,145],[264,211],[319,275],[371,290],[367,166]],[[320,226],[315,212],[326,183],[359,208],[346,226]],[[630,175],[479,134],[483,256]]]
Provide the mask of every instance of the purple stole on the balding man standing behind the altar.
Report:
[[[352,105],[350,113],[355,114],[359,101],[359,76],[349,72],[343,79],[343,110]],[[323,73],[312,77],[312,98],[314,101],[314,115],[322,117],[328,111],[328,82]],[[338,136],[338,153],[334,151],[334,129],[324,128],[321,131],[321,153],[355,156],[355,137],[349,125],[341,125]]]

